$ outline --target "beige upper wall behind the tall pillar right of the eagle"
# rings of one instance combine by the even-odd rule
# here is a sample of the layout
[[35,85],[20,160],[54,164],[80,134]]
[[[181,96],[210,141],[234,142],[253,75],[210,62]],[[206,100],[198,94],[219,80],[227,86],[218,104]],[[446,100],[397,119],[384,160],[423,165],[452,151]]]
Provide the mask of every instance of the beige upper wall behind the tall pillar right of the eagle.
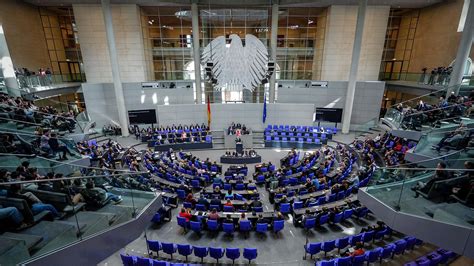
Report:
[[[357,21],[357,6],[329,7],[321,80],[348,80]],[[378,80],[389,6],[368,6],[357,80]]]

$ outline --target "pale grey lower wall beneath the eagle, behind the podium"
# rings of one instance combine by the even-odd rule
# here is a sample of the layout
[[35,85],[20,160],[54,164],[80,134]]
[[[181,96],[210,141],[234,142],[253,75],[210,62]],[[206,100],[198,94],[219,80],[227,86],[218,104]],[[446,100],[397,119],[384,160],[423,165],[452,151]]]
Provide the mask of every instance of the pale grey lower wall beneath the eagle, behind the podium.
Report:
[[[331,81],[325,88],[306,88],[304,84],[296,82],[291,87],[278,88],[278,103],[267,105],[265,124],[312,125],[315,107],[344,108],[347,82]],[[363,124],[378,116],[384,86],[384,82],[357,82],[352,125]],[[142,90],[141,83],[124,83],[123,89],[127,111],[156,109],[158,122],[162,125],[207,124],[207,105],[194,104],[192,88],[178,86],[175,89]],[[84,83],[82,90],[89,115],[97,126],[109,124],[111,120],[118,121],[112,83]],[[169,105],[165,105],[166,97]],[[264,128],[263,104],[211,104],[211,112],[215,130],[227,128],[232,121],[245,123],[254,130]]]

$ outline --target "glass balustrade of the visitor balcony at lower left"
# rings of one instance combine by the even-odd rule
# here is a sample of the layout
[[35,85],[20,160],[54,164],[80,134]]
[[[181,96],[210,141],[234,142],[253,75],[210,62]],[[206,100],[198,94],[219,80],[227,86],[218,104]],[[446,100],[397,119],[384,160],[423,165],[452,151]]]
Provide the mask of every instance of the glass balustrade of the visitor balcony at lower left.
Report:
[[[37,169],[32,173],[41,176],[40,180],[0,179],[0,205],[15,207],[22,217],[20,221],[2,221],[5,233],[0,235],[0,246],[8,251],[0,252],[0,261],[5,265],[47,254],[135,219],[156,197],[154,192],[131,189],[128,184],[140,173],[129,171],[112,173],[2,154],[0,169],[11,173],[25,160],[30,169]],[[31,200],[27,202],[25,197]]]

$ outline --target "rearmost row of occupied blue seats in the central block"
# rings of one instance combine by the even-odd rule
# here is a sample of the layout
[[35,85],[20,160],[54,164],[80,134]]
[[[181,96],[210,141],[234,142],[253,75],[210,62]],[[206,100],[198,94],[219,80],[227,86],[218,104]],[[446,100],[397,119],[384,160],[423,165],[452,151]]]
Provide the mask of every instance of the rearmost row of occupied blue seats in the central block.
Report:
[[[200,234],[203,230],[201,221],[186,221],[186,218],[176,217],[178,225],[184,229],[186,232],[188,229]],[[233,234],[235,232],[235,226],[233,223],[222,223],[220,224],[217,220],[207,220],[206,221],[207,230],[209,231],[224,231],[226,234]],[[268,231],[269,225],[267,223],[258,223],[255,227],[255,231],[258,233],[266,233]],[[285,221],[274,221],[273,222],[273,232],[278,233],[285,227]],[[239,222],[239,232],[249,233],[252,230],[252,223],[250,221],[240,221]]]

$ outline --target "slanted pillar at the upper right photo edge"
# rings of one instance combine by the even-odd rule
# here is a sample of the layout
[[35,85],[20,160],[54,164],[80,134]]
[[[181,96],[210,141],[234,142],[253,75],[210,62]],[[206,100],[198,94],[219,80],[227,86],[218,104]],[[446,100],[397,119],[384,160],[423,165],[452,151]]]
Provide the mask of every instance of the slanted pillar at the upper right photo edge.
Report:
[[474,37],[474,0],[469,3],[469,9],[467,10],[466,21],[464,23],[464,29],[462,31],[461,40],[458,46],[458,52],[456,54],[456,60],[454,61],[453,72],[451,73],[451,79],[449,80],[449,89],[447,96],[452,91],[457,95],[459,93],[459,84],[462,82],[464,74],[464,68],[466,66],[467,58],[471,52],[472,41]]

